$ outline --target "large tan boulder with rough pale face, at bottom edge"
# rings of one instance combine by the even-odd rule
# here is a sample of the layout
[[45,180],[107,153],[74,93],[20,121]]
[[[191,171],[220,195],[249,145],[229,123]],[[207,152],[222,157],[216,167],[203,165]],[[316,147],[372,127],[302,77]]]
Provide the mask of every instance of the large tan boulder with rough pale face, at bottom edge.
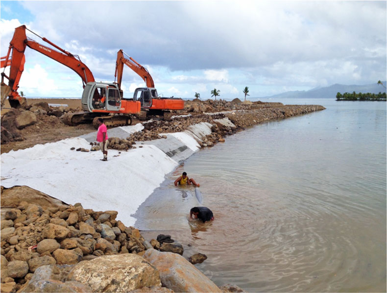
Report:
[[160,286],[154,266],[136,254],[104,255],[76,264],[68,280],[89,286],[92,292],[129,292]]

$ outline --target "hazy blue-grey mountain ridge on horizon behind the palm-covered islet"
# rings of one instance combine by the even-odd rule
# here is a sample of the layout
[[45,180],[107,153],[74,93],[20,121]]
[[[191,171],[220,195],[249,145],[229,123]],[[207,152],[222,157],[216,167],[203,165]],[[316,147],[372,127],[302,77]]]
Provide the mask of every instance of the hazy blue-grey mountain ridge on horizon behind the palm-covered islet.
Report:
[[[387,84],[387,82],[382,82],[384,85]],[[260,98],[294,98],[294,99],[300,99],[300,98],[318,98],[318,99],[324,99],[324,98],[336,98],[336,94],[339,92],[341,94],[347,92],[362,92],[362,93],[374,93],[378,94],[379,92],[386,92],[386,88],[383,87],[383,85],[380,84],[364,84],[364,85],[345,85],[345,84],[333,84],[327,87],[315,87],[310,90],[296,90],[296,91],[288,91],[281,94],[273,95],[273,96],[267,96],[267,97],[260,97]]]

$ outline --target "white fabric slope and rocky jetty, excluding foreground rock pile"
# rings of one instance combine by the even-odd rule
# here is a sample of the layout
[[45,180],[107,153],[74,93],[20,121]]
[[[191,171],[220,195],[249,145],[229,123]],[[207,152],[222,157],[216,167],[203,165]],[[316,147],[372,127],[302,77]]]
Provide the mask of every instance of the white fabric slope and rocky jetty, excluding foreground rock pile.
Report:
[[[115,127],[108,130],[110,146],[115,149],[109,149],[107,162],[99,160],[99,151],[71,150],[89,150],[96,132],[10,151],[1,154],[1,185],[25,185],[65,203],[117,210],[118,219],[132,226],[136,219],[131,214],[165,175],[201,147],[222,142],[248,126],[323,109],[319,105],[274,105]],[[156,137],[161,138],[152,139]]]

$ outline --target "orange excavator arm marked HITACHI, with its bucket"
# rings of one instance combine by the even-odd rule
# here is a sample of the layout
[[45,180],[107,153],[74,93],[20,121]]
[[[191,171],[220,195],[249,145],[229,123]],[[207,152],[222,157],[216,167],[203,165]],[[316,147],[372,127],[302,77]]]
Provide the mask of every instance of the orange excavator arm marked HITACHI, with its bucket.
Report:
[[[25,30],[28,30],[25,25],[15,28],[13,38],[9,43],[7,56],[5,56],[4,59],[1,58],[1,67],[3,67],[3,64],[4,67],[7,65],[10,66],[9,77],[6,76],[4,72],[1,72],[1,84],[4,84],[4,77],[8,79],[8,86],[11,88],[11,93],[8,97],[10,105],[12,107],[18,107],[20,105],[20,96],[17,92],[17,89],[19,87],[19,81],[24,70],[24,51],[27,46],[73,69],[73,71],[75,71],[82,79],[83,87],[88,82],[95,81],[90,69],[80,61],[78,56],[67,52],[66,50],[55,45],[54,43],[48,41],[46,38],[42,38],[34,32],[28,30],[61,52],[58,52],[52,48],[49,48],[34,40],[31,40],[27,38]],[[12,57],[10,57],[11,52]]]

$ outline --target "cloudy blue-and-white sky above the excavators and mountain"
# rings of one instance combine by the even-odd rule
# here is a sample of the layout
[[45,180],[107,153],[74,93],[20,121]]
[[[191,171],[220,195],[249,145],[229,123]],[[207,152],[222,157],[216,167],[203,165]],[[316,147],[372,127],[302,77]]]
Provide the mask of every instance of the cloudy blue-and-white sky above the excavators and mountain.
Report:
[[[159,94],[193,99],[264,97],[331,84],[386,80],[386,1],[5,1],[1,56],[14,29],[79,55],[96,81],[114,81],[117,51],[151,73]],[[39,37],[27,37],[45,44]],[[80,97],[66,66],[25,50],[28,97]],[[130,96],[145,86],[124,68]]]

